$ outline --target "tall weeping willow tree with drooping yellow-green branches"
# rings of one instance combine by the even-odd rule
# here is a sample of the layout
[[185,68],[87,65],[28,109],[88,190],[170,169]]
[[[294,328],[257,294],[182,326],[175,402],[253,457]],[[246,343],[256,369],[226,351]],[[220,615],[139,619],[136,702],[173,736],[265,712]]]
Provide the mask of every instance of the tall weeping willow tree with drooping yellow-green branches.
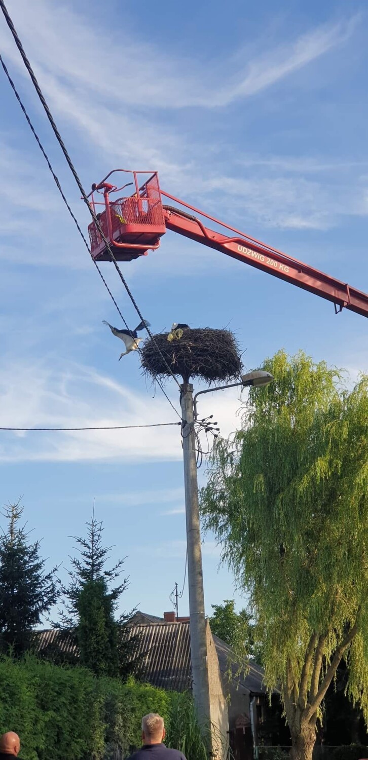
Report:
[[349,392],[337,370],[284,351],[263,369],[274,382],[217,442],[201,508],[249,595],[293,760],[310,760],[341,660],[368,718],[368,377]]

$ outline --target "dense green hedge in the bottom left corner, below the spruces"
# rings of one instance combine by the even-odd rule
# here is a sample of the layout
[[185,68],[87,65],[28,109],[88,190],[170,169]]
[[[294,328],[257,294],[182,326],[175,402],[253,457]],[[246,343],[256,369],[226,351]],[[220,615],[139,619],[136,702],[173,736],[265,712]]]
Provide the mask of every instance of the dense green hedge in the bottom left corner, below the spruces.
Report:
[[[81,668],[63,669],[33,657],[0,661],[0,731],[21,736],[21,756],[30,760],[80,758],[103,746],[96,679]],[[97,698],[96,698],[97,697]]]

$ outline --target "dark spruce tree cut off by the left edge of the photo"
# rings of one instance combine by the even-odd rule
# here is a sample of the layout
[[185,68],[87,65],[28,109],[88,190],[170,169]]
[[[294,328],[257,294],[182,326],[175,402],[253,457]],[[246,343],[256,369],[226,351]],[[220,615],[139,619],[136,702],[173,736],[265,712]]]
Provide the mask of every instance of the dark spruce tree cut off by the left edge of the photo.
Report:
[[0,536],[0,644],[21,657],[30,648],[32,629],[56,603],[55,570],[45,572],[40,558],[40,542],[29,543],[25,527],[18,521],[20,503],[10,504],[3,513],[8,530]]

